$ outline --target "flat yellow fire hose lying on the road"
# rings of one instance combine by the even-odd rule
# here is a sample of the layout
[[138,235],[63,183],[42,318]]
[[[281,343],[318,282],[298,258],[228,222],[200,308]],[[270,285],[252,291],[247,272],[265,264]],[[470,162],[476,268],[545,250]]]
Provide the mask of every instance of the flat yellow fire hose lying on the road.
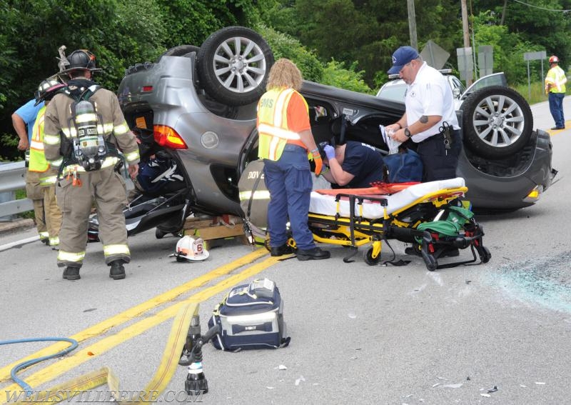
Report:
[[168,341],[166,342],[161,364],[158,366],[151,381],[145,386],[145,389],[139,391],[133,398],[123,397],[119,389],[119,379],[113,374],[111,369],[102,367],[96,371],[91,371],[70,381],[66,381],[63,384],[51,387],[50,389],[35,391],[31,399],[22,398],[21,401],[10,401],[9,403],[57,403],[81,395],[85,391],[104,384],[108,385],[110,394],[118,404],[151,404],[156,402],[158,396],[166,389],[166,386],[176,371],[178,359],[181,357],[183,346],[186,343],[188,329],[191,326],[191,320],[194,316],[198,316],[198,302],[191,302],[188,305],[182,306],[178,311],[173,321],[173,326],[171,327],[171,333],[168,335]]

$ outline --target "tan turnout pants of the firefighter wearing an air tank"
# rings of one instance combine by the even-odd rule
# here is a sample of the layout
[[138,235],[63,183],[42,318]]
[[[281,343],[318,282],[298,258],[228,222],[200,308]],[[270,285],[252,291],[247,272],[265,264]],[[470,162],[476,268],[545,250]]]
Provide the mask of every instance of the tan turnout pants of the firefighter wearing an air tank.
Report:
[[85,257],[91,207],[95,203],[99,220],[99,239],[103,243],[105,263],[118,259],[128,263],[127,229],[123,207],[126,187],[123,177],[112,167],[78,173],[81,186],[73,176],[58,181],[56,196],[63,214],[59,234],[58,266],[81,267]]

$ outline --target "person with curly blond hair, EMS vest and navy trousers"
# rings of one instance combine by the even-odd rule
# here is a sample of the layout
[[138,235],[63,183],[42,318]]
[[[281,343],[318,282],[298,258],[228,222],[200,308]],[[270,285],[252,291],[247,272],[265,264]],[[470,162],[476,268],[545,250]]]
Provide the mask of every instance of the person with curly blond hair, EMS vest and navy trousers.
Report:
[[279,59],[270,69],[268,91],[258,102],[258,157],[264,161],[263,176],[270,191],[271,256],[293,252],[287,244],[289,218],[298,260],[328,259],[330,252],[315,246],[308,228],[313,186],[308,158],[315,161],[316,175],[323,168],[323,160],[311,133],[308,104],[298,93],[301,81],[298,66],[289,59]]

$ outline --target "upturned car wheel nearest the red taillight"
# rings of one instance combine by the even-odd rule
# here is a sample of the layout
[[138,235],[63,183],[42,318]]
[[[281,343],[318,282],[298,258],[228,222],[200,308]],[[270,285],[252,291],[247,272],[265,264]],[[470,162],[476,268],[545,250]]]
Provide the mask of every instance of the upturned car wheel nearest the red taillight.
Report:
[[230,106],[257,101],[273,64],[268,43],[256,31],[229,26],[208,36],[198,51],[198,77],[211,97]]

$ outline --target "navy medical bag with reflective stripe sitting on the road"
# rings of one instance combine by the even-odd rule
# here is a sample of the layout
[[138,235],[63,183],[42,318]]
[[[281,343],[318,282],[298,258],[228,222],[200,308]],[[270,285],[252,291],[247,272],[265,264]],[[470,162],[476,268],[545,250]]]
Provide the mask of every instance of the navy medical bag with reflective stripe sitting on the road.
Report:
[[208,320],[208,328],[215,325],[220,327],[212,339],[216,349],[277,349],[290,342],[290,338],[284,337],[280,291],[268,279],[233,287]]

